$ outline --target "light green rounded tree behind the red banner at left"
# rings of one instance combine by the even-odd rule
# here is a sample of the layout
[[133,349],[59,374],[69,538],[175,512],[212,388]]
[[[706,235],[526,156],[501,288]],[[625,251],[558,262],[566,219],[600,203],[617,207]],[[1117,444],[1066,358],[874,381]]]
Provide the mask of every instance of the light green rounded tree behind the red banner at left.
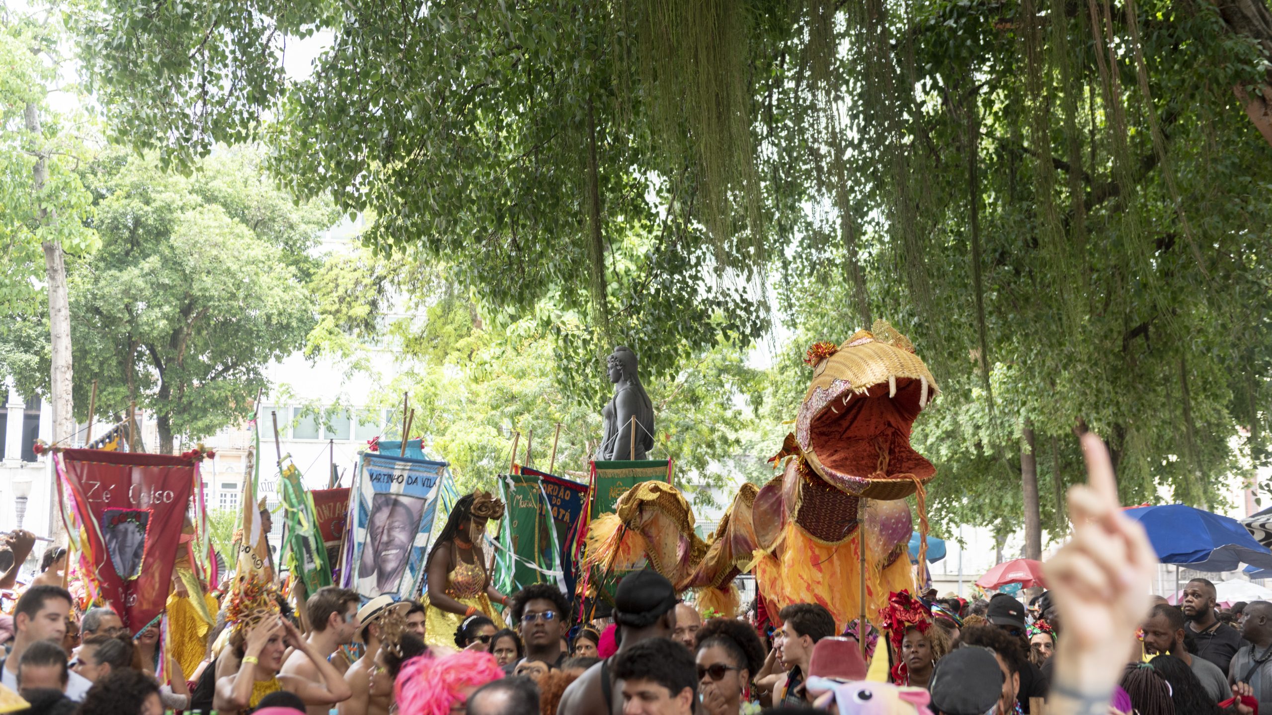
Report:
[[151,410],[164,453],[244,419],[265,366],[301,347],[314,322],[307,251],[335,218],[293,206],[252,151],[198,169],[125,154],[89,165],[102,248],[71,268],[76,389],[97,379],[103,413],[134,399]]

